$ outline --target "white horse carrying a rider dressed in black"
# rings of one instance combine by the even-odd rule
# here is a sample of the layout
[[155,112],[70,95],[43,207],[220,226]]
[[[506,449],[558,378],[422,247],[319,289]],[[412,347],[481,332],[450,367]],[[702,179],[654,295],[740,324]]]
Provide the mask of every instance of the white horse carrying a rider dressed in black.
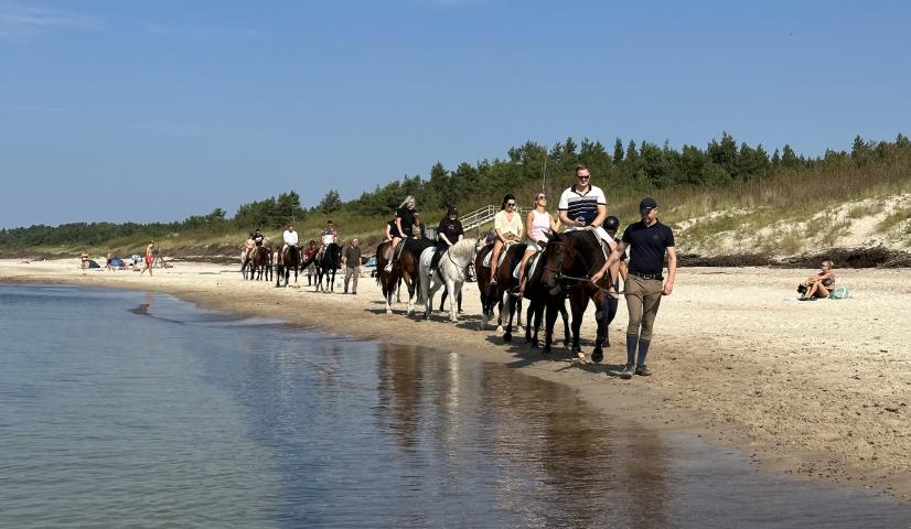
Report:
[[468,266],[474,261],[478,255],[478,241],[475,239],[462,239],[450,246],[440,259],[440,270],[433,274],[432,281],[428,278],[430,271],[430,259],[433,257],[433,248],[424,250],[420,255],[420,293],[424,298],[424,317],[430,320],[430,312],[433,310],[433,294],[446,285],[449,296],[449,321],[458,322],[459,315],[456,310],[459,292],[465,284],[468,277]]

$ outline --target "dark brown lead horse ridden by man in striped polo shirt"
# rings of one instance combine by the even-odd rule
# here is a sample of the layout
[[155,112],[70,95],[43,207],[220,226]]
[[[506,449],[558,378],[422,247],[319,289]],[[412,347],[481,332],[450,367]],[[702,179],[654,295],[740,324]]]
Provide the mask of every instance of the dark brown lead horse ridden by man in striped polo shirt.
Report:
[[[582,356],[579,346],[579,328],[582,316],[588,307],[589,300],[600,307],[603,303],[604,290],[591,282],[590,278],[604,264],[604,252],[597,235],[590,230],[555,234],[547,242],[544,261],[538,263],[540,277],[538,285],[544,292],[547,306],[547,319],[544,333],[544,353],[550,352],[554,337],[554,323],[557,320],[560,305],[569,299],[572,311],[572,352]],[[610,276],[610,274],[608,274]],[[610,277],[602,279],[602,284],[610,284]],[[602,311],[598,311],[601,314]],[[601,361],[604,357],[605,317],[598,320],[598,332],[592,361]]]

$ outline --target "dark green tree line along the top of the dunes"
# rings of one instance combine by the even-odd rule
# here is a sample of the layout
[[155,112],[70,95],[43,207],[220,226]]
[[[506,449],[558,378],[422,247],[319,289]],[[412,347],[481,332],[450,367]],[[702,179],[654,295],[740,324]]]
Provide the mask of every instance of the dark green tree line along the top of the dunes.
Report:
[[61,226],[31,226],[0,229],[0,247],[95,246],[117,238],[138,236],[162,237],[168,234],[206,231],[213,235],[229,230],[281,228],[288,220],[302,222],[315,213],[345,213],[361,216],[389,216],[406,195],[415,195],[425,209],[441,209],[446,205],[471,206],[495,203],[508,191],[518,191],[549,175],[555,186],[572,181],[578,163],[588,165],[601,182],[629,190],[662,190],[675,186],[706,190],[764,179],[780,169],[797,171],[821,163],[853,163],[862,166],[889,161],[897,153],[911,153],[911,141],[898,134],[893,142],[854,139],[850,152],[827,150],[823,156],[805,158],[785,144],[770,155],[761,144],[740,144],[727,132],[712,139],[705,148],[684,145],[679,151],[665,142],[662,145],[642,141],[624,143],[617,139],[612,149],[599,141],[571,138],[547,148],[526,142],[506,152],[506,158],[462,162],[453,169],[436,163],[427,175],[406,175],[399,181],[376,186],[360,197],[343,202],[331,190],[320,203],[309,209],[300,205],[300,195],[290,191],[277,197],[251,202],[238,207],[232,218],[216,208],[208,215],[191,216],[175,223],[73,223]]

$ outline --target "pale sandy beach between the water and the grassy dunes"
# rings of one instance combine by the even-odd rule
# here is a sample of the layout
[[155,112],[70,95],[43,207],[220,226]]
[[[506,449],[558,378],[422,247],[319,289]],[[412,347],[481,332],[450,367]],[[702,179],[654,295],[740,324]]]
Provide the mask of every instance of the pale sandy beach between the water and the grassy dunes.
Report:
[[[83,273],[77,259],[0,260],[2,282],[159,291],[210,309],[503,364],[574,387],[608,415],[698,434],[765,468],[911,500],[911,273],[836,269],[851,299],[796,302],[794,287],[814,271],[679,269],[655,325],[649,361],[654,376],[621,380],[605,370],[625,360],[622,301],[610,328],[613,345],[603,364],[590,366],[561,344],[545,357],[525,344],[523,332],[504,344],[493,325],[480,330],[474,283],[464,290],[465,314],[456,325],[448,313],[437,312],[430,322],[422,313],[406,317],[404,303],[385,314],[369,278],[361,279],[355,296],[315,293],[303,278],[288,289],[242,281],[237,267],[224,264],[176,262],[150,278]],[[587,353],[593,337],[590,307],[582,326]]]

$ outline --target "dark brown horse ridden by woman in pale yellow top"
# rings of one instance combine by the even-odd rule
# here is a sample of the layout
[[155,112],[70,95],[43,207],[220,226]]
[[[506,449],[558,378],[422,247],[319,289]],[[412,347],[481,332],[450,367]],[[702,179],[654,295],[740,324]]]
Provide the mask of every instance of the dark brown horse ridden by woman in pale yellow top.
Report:
[[[510,342],[513,339],[513,316],[518,310],[519,317],[516,325],[522,325],[522,300],[513,295],[512,292],[518,288],[518,280],[513,277],[513,269],[522,260],[525,253],[525,248],[528,245],[516,244],[510,245],[508,248],[502,251],[505,257],[500,266],[496,267],[496,284],[491,284],[491,269],[490,266],[484,266],[484,258],[493,251],[493,245],[486,245],[478,252],[474,259],[474,270],[478,273],[478,289],[481,291],[481,310],[483,314],[482,325],[485,327],[487,322],[493,317],[493,306],[497,307],[497,326],[496,332],[503,333],[503,341]],[[510,320],[506,328],[503,328],[503,298],[508,293],[507,310],[510,311]],[[527,323],[527,322],[526,322]]]

